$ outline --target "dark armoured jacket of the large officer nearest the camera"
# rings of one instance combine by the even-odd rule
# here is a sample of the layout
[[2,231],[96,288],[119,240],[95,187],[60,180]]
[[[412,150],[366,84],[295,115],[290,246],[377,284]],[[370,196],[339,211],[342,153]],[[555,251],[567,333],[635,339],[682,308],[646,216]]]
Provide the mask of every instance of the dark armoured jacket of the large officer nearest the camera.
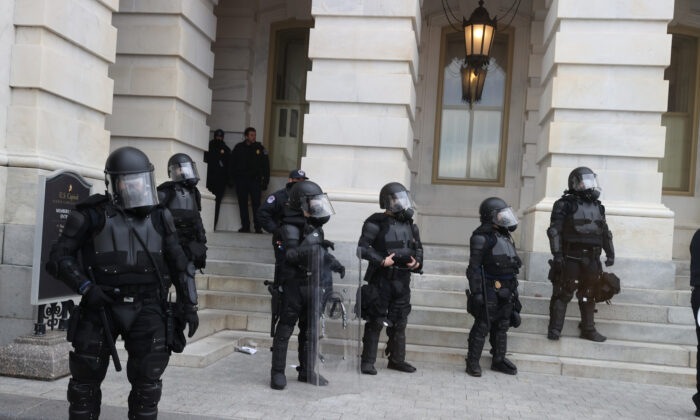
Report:
[[[157,267],[129,228],[145,242]],[[155,207],[145,218],[132,218],[95,194],[78,203],[68,215],[66,225],[52,246],[47,270],[72,290],[78,290],[90,278],[105,286],[162,285],[157,271],[178,279],[187,269],[187,258],[178,243],[170,211]]]

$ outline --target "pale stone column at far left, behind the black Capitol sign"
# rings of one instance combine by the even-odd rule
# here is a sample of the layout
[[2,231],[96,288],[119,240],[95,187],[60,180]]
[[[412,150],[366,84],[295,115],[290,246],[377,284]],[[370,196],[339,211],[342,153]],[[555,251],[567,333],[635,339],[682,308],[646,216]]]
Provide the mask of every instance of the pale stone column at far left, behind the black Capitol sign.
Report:
[[72,169],[101,188],[118,3],[0,5],[0,345],[31,332],[35,317],[29,301],[38,176]]

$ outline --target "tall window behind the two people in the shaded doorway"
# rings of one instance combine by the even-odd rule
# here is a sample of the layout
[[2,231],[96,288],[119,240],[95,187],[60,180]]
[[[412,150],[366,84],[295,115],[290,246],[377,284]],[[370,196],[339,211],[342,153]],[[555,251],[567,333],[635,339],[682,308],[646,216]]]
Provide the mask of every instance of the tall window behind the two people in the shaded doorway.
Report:
[[299,167],[303,153],[302,130],[309,60],[308,24],[273,25],[268,72],[266,136],[273,174],[286,176]]

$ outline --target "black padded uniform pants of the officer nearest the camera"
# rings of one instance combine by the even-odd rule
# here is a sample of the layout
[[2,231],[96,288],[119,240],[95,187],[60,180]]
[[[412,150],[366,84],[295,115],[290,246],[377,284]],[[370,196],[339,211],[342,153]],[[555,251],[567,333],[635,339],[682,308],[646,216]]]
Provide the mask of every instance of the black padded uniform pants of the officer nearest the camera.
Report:
[[[130,419],[155,419],[162,391],[161,375],[170,358],[166,345],[166,322],[161,303],[156,299],[123,303],[105,308],[114,339],[121,335],[129,354],[126,375],[131,383]],[[71,419],[97,418],[110,349],[97,309],[81,307],[74,333],[69,363],[69,415]]]

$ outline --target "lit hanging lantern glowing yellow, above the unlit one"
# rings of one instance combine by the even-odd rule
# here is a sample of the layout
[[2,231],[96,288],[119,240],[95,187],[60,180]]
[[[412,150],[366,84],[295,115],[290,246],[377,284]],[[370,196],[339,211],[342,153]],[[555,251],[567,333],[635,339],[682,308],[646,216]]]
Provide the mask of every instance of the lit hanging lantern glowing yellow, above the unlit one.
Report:
[[496,18],[489,17],[483,0],[479,0],[479,7],[474,10],[469,20],[462,18],[462,26],[467,63],[472,67],[488,66],[493,38],[496,34]]

